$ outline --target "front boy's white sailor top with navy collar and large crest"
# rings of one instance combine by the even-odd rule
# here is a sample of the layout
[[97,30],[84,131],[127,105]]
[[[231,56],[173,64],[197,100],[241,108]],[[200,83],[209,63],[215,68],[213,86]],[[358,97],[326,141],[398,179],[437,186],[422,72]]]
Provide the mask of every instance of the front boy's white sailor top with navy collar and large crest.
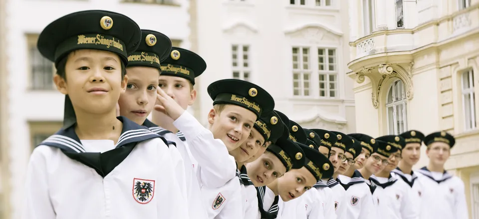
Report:
[[125,117],[117,144],[60,130],[30,157],[24,219],[189,218],[168,142]]

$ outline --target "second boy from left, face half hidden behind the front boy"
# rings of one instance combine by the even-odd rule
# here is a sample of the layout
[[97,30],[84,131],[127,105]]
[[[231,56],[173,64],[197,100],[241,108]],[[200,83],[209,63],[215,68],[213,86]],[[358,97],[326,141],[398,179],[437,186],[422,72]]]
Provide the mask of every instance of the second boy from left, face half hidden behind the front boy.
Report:
[[[142,125],[155,106],[160,62],[165,60],[171,50],[171,40],[163,33],[153,30],[141,30],[140,45],[128,55],[126,72],[128,83],[125,93],[118,100],[120,116]],[[169,142],[169,150],[175,167],[184,200],[187,200],[185,164],[176,148],[175,142]],[[189,209],[188,207],[186,207]]]

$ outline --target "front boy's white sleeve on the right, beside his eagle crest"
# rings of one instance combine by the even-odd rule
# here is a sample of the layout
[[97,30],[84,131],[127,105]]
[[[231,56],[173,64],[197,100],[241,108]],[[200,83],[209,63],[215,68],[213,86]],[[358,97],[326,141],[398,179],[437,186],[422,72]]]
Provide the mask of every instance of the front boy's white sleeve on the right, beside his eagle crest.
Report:
[[[166,148],[163,141],[158,147]],[[174,146],[170,146],[174,147]],[[158,196],[158,219],[189,219],[188,205],[177,180],[175,167],[170,153],[158,150],[158,180],[155,185],[155,196]]]

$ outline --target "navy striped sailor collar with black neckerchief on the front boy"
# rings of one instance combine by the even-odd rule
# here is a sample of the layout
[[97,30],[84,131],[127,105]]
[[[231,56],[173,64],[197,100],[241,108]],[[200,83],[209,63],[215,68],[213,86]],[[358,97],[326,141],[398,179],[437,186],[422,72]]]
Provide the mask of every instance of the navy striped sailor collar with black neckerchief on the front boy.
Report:
[[123,129],[113,150],[104,153],[85,152],[80,139],[75,133],[74,125],[64,130],[59,130],[54,135],[45,139],[40,145],[60,149],[61,152],[70,159],[94,169],[104,178],[128,157],[138,143],[153,138],[161,138],[165,144],[168,144],[165,138],[153,133],[144,126],[134,123],[126,117],[119,116],[117,119],[123,123]]

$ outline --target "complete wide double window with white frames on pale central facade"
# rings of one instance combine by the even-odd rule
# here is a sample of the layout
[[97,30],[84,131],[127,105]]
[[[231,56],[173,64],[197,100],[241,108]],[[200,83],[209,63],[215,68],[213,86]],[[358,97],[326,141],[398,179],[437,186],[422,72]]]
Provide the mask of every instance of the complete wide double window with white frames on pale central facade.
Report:
[[[299,53],[298,56],[300,59],[298,59],[298,69],[294,69],[294,62],[293,62],[293,48],[298,48]],[[303,48],[308,49],[308,69],[303,69]],[[319,70],[319,51],[320,49],[323,49],[325,52],[324,58],[323,58],[323,65],[324,69]],[[334,68],[335,70],[329,70],[329,50],[334,50]],[[293,98],[307,98],[307,99],[338,99],[340,97],[340,50],[338,47],[335,46],[322,46],[322,45],[293,45],[290,47],[290,60],[291,60],[291,79],[292,79],[292,84],[291,84],[291,96]],[[295,80],[294,79],[294,73],[300,73],[299,79]],[[304,73],[307,73],[309,75],[309,95],[304,95]],[[320,96],[320,80],[319,80],[319,75],[325,75],[326,80],[325,80],[325,96]],[[334,75],[336,81],[334,82],[334,97],[330,96],[330,75]],[[299,82],[299,95],[295,95],[295,87],[294,87],[294,82]]]

